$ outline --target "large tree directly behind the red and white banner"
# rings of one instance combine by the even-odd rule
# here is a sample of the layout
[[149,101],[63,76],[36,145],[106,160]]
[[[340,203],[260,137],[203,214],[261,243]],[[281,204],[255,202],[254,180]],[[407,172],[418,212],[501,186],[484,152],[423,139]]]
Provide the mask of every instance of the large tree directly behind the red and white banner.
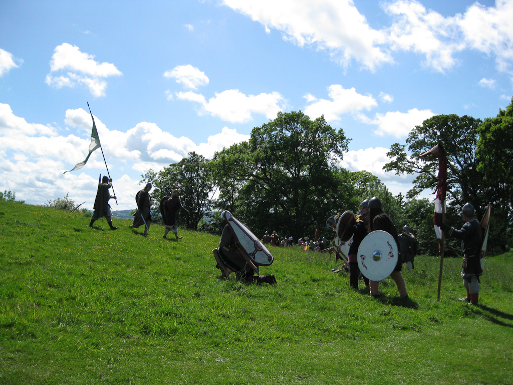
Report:
[[[417,174],[413,187],[407,197],[415,198],[421,191],[435,190],[438,183],[438,162],[421,158],[421,154],[438,143],[442,143],[447,152],[447,200],[449,204],[447,222],[458,227],[463,222],[455,216],[466,203],[476,209],[476,217],[481,219],[488,202],[496,202],[498,191],[487,182],[486,173],[480,164],[477,144],[480,138],[480,119],[467,115],[436,115],[426,119],[421,126],[413,128],[406,144],[394,143],[387,153],[391,161],[384,167],[396,174]],[[406,150],[407,146],[407,150]],[[494,221],[492,221],[494,224]],[[498,221],[495,221],[495,225]],[[494,225],[494,226],[495,226]],[[505,243],[501,228],[492,227],[489,249],[499,251]],[[456,250],[455,250],[456,251]]]

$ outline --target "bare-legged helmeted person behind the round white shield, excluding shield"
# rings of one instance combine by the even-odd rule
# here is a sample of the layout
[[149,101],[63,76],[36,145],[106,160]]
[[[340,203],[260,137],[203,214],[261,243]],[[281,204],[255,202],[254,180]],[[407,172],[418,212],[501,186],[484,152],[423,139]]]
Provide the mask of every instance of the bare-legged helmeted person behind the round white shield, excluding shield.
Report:
[[[383,212],[381,209],[381,201],[377,197],[372,197],[368,203],[369,214],[367,216],[366,227],[367,232],[373,232],[374,230],[383,230],[390,234],[397,243],[399,249],[399,239],[397,237],[396,225],[393,224],[390,217]],[[397,265],[394,267],[390,278],[396,282],[397,290],[401,298],[408,298],[408,292],[406,291],[406,284],[404,283],[403,276],[401,275],[401,268],[403,264],[401,258],[397,259]],[[379,283],[380,281],[369,280],[370,293],[372,297],[379,297]]]

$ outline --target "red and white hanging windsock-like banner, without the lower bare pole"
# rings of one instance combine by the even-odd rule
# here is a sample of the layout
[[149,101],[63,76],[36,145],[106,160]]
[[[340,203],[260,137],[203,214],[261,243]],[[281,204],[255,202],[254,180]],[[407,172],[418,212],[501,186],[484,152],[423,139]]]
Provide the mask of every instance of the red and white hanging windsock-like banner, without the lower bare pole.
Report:
[[439,252],[442,252],[442,229],[440,225],[443,222],[442,214],[445,213],[445,199],[447,197],[447,152],[445,152],[442,143],[437,144],[429,151],[424,152],[421,157],[431,155],[438,157],[438,184],[435,192],[435,214],[433,215],[433,222],[435,223],[435,233],[438,238]]

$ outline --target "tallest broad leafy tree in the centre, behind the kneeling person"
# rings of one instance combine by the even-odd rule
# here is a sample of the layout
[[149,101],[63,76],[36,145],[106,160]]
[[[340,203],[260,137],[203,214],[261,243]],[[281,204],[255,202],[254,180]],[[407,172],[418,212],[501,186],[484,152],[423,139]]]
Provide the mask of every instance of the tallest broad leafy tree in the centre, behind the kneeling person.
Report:
[[214,156],[220,208],[259,235],[267,229],[295,239],[312,236],[316,221],[321,228],[333,210],[354,199],[348,172],[335,165],[347,144],[344,131],[323,117],[279,112],[255,127],[248,142]]

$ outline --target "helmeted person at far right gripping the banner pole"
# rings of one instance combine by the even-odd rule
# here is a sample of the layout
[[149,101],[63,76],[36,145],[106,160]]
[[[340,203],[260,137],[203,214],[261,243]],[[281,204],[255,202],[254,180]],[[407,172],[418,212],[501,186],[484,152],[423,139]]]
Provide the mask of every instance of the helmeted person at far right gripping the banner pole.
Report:
[[474,217],[474,208],[470,203],[463,206],[461,215],[465,221],[461,230],[445,223],[440,224],[440,228],[447,236],[461,239],[461,250],[463,252],[461,276],[463,277],[463,286],[467,290],[467,296],[459,298],[459,300],[477,305],[479,300],[479,277],[483,275],[480,260],[483,230],[481,229],[481,223]]

